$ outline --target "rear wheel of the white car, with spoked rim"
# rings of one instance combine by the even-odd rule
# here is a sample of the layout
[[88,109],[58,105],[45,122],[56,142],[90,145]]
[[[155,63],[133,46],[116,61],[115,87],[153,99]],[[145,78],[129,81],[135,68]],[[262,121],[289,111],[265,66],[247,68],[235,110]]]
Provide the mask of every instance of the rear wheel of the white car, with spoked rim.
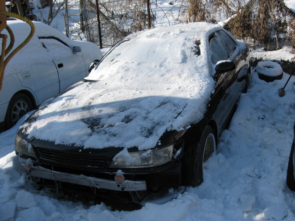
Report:
[[8,104],[5,115],[5,129],[13,127],[22,116],[32,110],[32,102],[25,94],[15,94]]

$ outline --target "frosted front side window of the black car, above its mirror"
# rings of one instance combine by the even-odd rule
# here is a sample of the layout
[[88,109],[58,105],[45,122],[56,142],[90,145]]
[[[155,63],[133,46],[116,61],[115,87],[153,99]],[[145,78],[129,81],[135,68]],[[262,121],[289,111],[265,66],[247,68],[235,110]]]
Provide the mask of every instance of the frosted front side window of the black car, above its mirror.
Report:
[[211,61],[216,64],[218,61],[227,60],[228,54],[223,46],[221,39],[214,34],[210,40]]

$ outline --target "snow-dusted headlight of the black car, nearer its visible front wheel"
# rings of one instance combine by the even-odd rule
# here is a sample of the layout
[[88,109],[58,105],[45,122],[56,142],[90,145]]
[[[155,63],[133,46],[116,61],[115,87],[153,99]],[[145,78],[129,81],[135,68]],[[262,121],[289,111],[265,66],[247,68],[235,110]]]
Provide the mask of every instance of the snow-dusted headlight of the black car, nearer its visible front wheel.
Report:
[[173,144],[156,150],[146,150],[129,153],[122,150],[114,158],[109,167],[111,168],[142,168],[155,167],[172,160]]

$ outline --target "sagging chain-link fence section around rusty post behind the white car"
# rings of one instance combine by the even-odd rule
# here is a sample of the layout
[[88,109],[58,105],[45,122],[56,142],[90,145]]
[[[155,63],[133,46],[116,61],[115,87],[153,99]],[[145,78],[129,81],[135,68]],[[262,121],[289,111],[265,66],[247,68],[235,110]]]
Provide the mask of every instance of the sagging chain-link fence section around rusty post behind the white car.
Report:
[[[81,30],[85,35],[87,41],[91,41],[100,45],[99,42],[99,25],[98,16],[100,20],[100,33],[102,39],[102,48],[112,47],[125,34],[117,28],[117,26],[104,15],[99,9],[100,3],[96,5],[95,0],[82,0],[82,14],[81,14]],[[98,12],[98,13],[97,13]]]

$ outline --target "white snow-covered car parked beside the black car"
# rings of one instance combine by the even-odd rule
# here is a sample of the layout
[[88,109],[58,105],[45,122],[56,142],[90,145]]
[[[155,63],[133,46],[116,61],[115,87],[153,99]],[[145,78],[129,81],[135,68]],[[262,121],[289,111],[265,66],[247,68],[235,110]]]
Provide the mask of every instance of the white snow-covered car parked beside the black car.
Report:
[[[18,47],[31,29],[23,21],[7,21]],[[25,113],[47,99],[83,80],[89,65],[102,58],[92,42],[73,41],[41,22],[34,22],[35,34],[8,62],[0,91],[0,124],[12,127]],[[2,34],[8,35],[5,30]],[[10,42],[8,35],[7,44]]]

